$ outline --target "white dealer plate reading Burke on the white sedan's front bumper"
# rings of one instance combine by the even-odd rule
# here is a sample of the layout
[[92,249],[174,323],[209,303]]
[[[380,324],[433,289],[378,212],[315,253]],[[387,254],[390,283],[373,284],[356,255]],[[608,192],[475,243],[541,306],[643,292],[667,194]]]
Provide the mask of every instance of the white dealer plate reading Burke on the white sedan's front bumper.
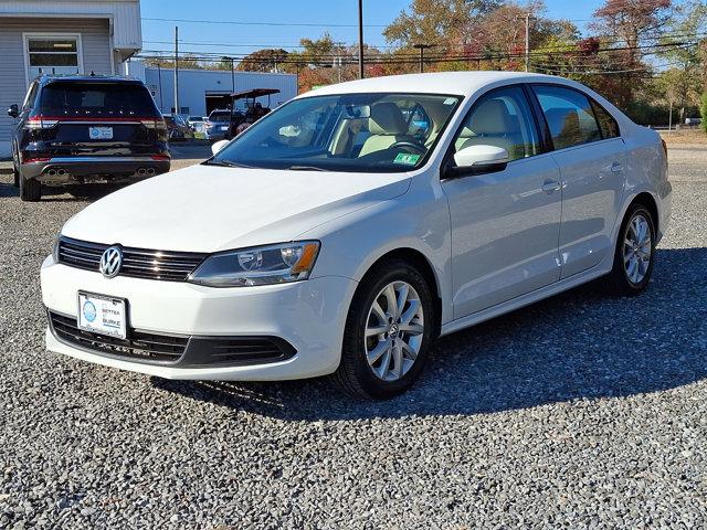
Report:
[[78,292],[78,328],[98,335],[127,337],[126,300]]

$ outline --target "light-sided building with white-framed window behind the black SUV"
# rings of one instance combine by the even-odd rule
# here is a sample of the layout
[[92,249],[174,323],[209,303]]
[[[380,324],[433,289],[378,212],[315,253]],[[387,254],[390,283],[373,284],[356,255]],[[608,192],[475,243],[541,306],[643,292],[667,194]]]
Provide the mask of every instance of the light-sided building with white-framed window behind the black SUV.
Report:
[[[0,0],[0,109],[40,73],[123,73],[141,46],[139,0]],[[0,116],[0,157],[11,128]]]

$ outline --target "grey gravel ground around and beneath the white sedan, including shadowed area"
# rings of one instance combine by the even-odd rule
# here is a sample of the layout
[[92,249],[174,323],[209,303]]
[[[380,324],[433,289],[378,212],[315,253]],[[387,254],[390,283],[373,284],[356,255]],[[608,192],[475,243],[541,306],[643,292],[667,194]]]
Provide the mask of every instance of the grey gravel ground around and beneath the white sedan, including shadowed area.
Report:
[[48,353],[38,269],[86,202],[23,204],[1,174],[0,527],[705,528],[706,169],[707,146],[671,150],[646,294],[590,285],[444,338],[386,403]]

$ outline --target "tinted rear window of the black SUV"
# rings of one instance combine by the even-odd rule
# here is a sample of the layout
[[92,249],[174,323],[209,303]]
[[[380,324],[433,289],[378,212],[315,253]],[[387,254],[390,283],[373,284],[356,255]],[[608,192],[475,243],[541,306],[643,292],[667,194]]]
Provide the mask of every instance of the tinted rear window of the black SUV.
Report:
[[44,115],[157,115],[152,96],[136,83],[52,83],[42,89]]

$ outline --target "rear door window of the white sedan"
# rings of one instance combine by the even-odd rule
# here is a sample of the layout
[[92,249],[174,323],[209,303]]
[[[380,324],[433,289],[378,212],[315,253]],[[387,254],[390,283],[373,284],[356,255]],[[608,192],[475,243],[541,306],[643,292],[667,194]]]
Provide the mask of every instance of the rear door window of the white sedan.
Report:
[[548,121],[555,149],[601,140],[599,125],[587,96],[559,86],[535,85],[532,88]]

